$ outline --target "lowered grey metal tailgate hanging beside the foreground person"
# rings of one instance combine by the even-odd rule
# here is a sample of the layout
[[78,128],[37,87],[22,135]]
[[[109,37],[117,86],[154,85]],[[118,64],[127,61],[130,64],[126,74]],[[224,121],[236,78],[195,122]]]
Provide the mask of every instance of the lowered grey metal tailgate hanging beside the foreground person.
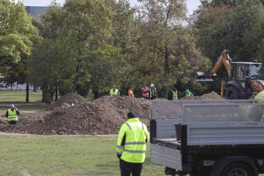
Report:
[[174,148],[150,143],[150,161],[172,169],[182,170],[181,150]]

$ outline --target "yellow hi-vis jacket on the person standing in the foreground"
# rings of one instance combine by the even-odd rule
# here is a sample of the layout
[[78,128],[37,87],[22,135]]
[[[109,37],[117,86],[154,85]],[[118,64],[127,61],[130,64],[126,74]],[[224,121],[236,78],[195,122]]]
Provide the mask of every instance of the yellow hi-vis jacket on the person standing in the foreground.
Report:
[[117,155],[128,163],[145,161],[146,142],[149,141],[148,129],[138,118],[128,119],[118,134]]

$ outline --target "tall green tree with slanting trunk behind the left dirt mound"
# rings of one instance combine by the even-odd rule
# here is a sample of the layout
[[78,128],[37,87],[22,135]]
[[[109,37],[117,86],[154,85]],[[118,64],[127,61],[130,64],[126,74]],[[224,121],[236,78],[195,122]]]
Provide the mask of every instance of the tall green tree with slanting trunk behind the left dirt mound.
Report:
[[[84,66],[91,58],[107,60],[115,52],[109,45],[110,18],[111,11],[99,0],[66,0],[62,9],[53,1],[43,15],[44,21],[58,27],[58,46],[63,55],[55,65],[56,72],[62,77],[70,75],[65,81],[72,84],[72,93],[77,84],[88,80],[89,73]],[[84,75],[82,79],[80,73]]]

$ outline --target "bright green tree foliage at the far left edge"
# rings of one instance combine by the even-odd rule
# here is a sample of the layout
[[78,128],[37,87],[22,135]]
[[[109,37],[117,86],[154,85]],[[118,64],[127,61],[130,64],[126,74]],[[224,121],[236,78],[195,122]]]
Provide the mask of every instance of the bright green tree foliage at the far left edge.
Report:
[[39,41],[38,30],[31,21],[22,3],[0,0],[0,74],[29,55],[33,43]]

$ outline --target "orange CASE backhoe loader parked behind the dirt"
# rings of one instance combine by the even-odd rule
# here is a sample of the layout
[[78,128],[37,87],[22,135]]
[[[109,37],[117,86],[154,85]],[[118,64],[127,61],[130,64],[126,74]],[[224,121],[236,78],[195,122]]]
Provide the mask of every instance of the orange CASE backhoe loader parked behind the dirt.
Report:
[[229,82],[224,87],[221,83],[221,96],[227,99],[251,99],[264,91],[262,64],[255,62],[233,62],[229,57],[229,50],[224,50],[217,60],[205,72],[196,72],[195,81],[213,81],[212,77],[221,65],[225,65]]

